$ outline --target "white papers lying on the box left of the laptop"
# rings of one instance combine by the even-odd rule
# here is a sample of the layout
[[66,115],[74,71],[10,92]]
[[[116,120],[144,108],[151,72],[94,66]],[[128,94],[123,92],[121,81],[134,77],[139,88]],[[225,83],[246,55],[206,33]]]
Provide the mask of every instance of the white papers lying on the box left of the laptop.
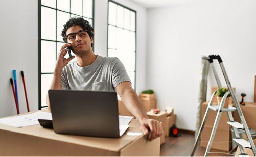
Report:
[[5,124],[14,127],[24,127],[39,124],[38,119],[52,119],[52,114],[49,112],[37,111],[27,115],[17,115],[9,118],[1,118],[0,124]]

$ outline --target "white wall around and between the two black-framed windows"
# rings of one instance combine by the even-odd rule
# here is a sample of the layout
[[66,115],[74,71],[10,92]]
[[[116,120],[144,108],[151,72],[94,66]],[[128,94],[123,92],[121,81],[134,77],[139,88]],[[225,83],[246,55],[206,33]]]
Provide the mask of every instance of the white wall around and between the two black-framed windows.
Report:
[[[137,84],[138,93],[146,83],[147,10],[130,1],[117,1],[137,11]],[[38,109],[38,1],[0,0],[0,117],[16,114],[10,85],[12,70],[17,71],[20,113],[27,112],[20,71],[25,74],[30,110]],[[107,0],[95,0],[95,53],[107,55]]]

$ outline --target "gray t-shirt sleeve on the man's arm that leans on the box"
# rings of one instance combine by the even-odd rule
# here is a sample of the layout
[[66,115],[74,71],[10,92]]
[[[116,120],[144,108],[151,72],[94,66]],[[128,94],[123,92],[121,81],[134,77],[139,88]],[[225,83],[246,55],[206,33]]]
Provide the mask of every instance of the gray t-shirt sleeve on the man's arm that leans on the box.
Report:
[[126,72],[126,69],[123,63],[118,58],[114,58],[112,68],[113,68],[112,82],[113,82],[114,88],[116,88],[117,85],[120,84],[121,82],[124,82],[124,81],[131,82],[130,77]]

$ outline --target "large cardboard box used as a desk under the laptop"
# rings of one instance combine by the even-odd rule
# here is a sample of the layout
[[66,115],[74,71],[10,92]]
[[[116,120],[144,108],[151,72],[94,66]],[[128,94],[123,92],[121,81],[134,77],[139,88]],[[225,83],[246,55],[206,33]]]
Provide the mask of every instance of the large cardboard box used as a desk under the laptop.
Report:
[[[139,121],[132,119],[128,132],[139,132]],[[54,133],[39,124],[12,127],[0,124],[0,156],[159,156],[160,138],[147,136],[96,138]]]

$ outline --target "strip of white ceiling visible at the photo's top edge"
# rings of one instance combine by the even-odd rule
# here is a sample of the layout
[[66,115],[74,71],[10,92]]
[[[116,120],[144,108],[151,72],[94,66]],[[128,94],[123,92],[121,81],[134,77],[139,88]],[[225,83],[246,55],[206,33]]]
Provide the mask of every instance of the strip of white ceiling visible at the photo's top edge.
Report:
[[170,5],[195,3],[203,0],[130,0],[146,8],[165,7]]

